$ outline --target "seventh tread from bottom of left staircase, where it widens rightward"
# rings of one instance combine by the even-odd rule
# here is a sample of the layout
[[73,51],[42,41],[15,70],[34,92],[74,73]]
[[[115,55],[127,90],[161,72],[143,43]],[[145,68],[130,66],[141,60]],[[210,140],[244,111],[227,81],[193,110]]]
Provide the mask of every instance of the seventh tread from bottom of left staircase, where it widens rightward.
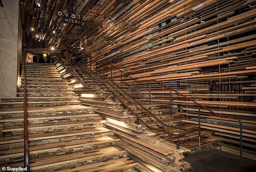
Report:
[[[48,112],[48,111],[66,111],[66,110],[86,110],[98,109],[97,107],[88,107],[82,105],[63,105],[63,106],[32,106],[27,107],[27,112]],[[0,108],[0,114],[3,113],[23,113],[23,107]]]

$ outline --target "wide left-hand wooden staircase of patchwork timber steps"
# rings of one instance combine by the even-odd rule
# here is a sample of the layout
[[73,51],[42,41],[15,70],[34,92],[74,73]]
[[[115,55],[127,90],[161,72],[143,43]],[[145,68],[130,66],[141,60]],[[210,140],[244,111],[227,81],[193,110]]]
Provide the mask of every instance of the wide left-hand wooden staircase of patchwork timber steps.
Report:
[[[116,145],[120,138],[94,113],[98,107],[80,105],[55,65],[27,63],[26,74],[30,171],[133,169],[137,163]],[[0,100],[0,162],[23,166],[23,94]]]

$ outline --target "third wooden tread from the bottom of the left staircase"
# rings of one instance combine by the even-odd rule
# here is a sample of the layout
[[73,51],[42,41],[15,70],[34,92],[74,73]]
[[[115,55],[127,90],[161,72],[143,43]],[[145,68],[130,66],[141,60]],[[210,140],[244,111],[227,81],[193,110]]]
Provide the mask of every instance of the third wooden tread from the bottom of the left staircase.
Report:
[[[49,144],[40,145],[29,145],[29,154],[40,154],[44,152],[55,152],[61,149],[71,149],[78,147],[88,147],[90,145],[99,145],[103,143],[110,143],[119,141],[120,139],[116,136],[101,136],[88,139],[72,140],[72,141],[61,141]],[[4,158],[15,158],[24,155],[24,147],[11,148],[9,150],[1,151],[0,159]]]

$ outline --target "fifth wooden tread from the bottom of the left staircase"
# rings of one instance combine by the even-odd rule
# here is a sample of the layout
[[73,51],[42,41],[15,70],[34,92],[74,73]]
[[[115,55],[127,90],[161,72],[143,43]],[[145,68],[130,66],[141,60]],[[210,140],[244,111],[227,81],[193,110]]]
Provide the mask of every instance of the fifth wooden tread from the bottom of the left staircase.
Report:
[[[33,129],[47,129],[47,128],[56,128],[56,127],[68,127],[68,126],[79,126],[79,125],[91,125],[91,124],[102,124],[106,123],[105,120],[88,120],[88,121],[72,121],[72,122],[60,122],[60,123],[46,123],[46,124],[33,124],[28,125],[28,130]],[[12,132],[12,131],[23,131],[24,126],[7,126],[3,127],[2,132]]]

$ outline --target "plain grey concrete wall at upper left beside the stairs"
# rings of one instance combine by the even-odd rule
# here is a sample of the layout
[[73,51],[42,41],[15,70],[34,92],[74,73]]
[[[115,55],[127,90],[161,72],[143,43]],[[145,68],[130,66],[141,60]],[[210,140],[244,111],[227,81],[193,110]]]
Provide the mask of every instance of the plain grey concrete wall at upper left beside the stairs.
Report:
[[[2,0],[0,7],[0,97],[16,96],[19,0]],[[19,43],[20,44],[20,43]],[[21,45],[19,45],[21,46]]]

